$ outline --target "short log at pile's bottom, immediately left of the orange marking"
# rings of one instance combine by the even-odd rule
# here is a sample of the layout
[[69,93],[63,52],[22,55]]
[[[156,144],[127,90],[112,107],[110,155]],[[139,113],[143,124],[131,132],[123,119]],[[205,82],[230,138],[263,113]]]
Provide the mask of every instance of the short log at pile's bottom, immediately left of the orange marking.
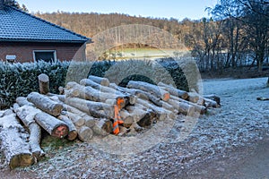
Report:
[[112,122],[105,118],[100,120],[92,127],[93,132],[96,135],[106,136],[113,132]]

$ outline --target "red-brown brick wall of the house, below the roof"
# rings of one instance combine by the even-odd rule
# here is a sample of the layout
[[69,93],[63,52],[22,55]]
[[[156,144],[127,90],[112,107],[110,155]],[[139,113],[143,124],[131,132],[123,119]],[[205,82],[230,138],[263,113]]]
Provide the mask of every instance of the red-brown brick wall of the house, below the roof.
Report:
[[70,43],[0,42],[0,60],[6,55],[16,55],[17,62],[34,62],[33,50],[56,50],[60,61],[85,59],[85,45]]

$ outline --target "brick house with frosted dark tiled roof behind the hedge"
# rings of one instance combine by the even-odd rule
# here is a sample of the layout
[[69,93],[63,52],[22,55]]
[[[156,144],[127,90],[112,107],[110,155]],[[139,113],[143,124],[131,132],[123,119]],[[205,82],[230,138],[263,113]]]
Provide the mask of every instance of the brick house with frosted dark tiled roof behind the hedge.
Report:
[[0,61],[37,62],[84,60],[83,37],[0,0]]

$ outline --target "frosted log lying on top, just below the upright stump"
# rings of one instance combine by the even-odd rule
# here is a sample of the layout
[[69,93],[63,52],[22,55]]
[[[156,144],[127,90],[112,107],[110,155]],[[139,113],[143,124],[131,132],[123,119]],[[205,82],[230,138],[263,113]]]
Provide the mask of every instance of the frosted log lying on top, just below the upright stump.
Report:
[[42,111],[48,113],[49,115],[58,116],[61,115],[63,110],[63,105],[56,103],[55,101],[51,100],[50,98],[41,95],[37,92],[31,92],[27,99],[38,107]]

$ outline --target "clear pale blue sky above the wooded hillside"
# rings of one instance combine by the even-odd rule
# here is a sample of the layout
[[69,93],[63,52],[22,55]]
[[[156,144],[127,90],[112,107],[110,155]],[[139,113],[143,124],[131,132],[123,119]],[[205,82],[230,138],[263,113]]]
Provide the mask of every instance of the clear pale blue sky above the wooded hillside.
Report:
[[30,13],[125,13],[132,16],[153,18],[189,18],[198,20],[208,17],[206,7],[213,7],[217,0],[17,0],[25,4]]

